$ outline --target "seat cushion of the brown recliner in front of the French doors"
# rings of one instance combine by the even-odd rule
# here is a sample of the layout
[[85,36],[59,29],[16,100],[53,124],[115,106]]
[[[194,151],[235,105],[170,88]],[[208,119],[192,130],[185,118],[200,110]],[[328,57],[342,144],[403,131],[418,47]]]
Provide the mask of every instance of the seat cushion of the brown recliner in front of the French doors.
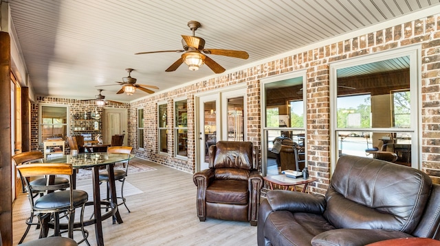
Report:
[[243,180],[214,180],[206,188],[206,202],[247,204],[248,182]]

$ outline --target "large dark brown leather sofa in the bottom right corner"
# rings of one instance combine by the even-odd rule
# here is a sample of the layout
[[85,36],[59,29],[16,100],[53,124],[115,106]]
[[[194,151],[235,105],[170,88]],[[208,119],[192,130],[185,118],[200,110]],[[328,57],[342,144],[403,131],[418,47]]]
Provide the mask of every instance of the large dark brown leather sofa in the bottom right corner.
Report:
[[417,169],[341,156],[325,196],[272,190],[259,208],[258,245],[366,245],[439,240],[440,186]]

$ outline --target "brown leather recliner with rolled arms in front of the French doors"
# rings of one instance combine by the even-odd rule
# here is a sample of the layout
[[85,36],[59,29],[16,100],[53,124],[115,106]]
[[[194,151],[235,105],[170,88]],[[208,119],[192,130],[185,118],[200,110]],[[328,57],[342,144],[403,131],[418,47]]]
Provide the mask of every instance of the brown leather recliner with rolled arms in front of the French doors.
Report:
[[219,141],[209,148],[209,169],[195,173],[197,216],[256,225],[263,187],[258,147],[251,142]]

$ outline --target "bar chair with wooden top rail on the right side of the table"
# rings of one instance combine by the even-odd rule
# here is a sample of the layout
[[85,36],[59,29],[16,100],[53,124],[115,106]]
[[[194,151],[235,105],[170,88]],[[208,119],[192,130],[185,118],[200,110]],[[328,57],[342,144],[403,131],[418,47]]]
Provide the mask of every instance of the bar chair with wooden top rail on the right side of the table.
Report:
[[[127,155],[129,155],[132,150],[133,150],[133,147],[129,147],[129,146],[111,146],[111,147],[107,148],[107,153],[126,153]],[[126,199],[124,197],[124,183],[125,183],[125,178],[126,178],[127,172],[129,170],[129,160],[126,160],[122,163],[123,163],[124,170],[114,169],[115,181],[118,180],[119,182],[122,182],[121,196],[116,197],[116,198],[122,199],[122,202],[120,204],[118,204],[118,206],[124,204],[126,210],[128,210],[130,212],[129,208],[126,206],[126,203],[125,203]],[[100,183],[107,182],[107,200],[110,200],[109,172],[101,171],[99,173],[99,181],[100,181]]]

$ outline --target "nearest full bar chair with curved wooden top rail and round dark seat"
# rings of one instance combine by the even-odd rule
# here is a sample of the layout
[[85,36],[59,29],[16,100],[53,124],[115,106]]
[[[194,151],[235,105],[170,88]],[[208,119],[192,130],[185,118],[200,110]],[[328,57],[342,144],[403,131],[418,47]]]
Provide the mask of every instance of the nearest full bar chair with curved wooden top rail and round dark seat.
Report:
[[[40,223],[40,236],[47,236],[49,230],[48,223],[54,225],[54,236],[60,236],[62,233],[60,230],[60,213],[65,212],[63,217],[68,220],[67,234],[69,238],[74,238],[74,220],[75,209],[81,208],[80,212],[80,231],[83,234],[83,239],[78,243],[85,241],[87,245],[89,241],[87,237],[89,232],[84,229],[84,208],[89,195],[84,190],[75,190],[72,174],[72,164],[67,163],[34,163],[25,164],[17,167],[21,177],[24,178],[26,186],[28,187],[28,198],[30,204],[32,204],[31,210],[33,214],[39,218]],[[60,190],[65,186],[59,184],[51,184],[50,180],[43,185],[31,184],[26,177],[38,177],[43,175],[67,175],[69,177],[69,189]],[[41,197],[34,197],[32,194],[39,193],[41,190],[46,190],[47,193]],[[53,220],[52,220],[53,218]],[[51,220],[51,221],[49,221]]]

